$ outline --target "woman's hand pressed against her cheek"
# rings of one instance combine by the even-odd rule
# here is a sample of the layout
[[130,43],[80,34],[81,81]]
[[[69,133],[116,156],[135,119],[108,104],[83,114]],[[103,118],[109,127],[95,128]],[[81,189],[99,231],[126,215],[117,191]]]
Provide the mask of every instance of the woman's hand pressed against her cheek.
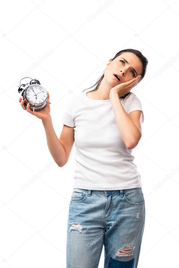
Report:
[[117,92],[119,95],[119,98],[124,96],[125,94],[129,93],[130,90],[133,87],[135,87],[135,85],[139,81],[140,77],[141,77],[141,75],[138,75],[137,77],[135,77],[127,82],[123,82],[123,83],[120,83],[118,85],[115,85],[115,87],[112,87],[110,92],[109,92],[109,98],[110,98],[110,94],[112,94],[113,92]]

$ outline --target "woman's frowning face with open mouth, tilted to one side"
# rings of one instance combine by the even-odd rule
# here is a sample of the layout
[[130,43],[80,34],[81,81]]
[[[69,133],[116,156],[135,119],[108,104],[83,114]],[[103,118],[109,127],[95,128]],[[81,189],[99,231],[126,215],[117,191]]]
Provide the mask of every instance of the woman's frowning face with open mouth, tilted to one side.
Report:
[[[111,87],[114,87],[141,75],[142,70],[143,65],[140,59],[131,52],[124,52],[113,61],[109,60],[104,72],[104,79]],[[119,76],[120,81],[115,75]]]

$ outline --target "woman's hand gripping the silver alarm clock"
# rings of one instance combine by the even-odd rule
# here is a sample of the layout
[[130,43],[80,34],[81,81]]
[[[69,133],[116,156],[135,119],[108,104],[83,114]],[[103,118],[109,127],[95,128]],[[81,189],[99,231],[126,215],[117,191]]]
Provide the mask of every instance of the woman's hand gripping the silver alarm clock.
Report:
[[[49,96],[48,91],[47,91],[47,95],[48,95],[47,101],[50,101],[50,96]],[[21,97],[19,97],[19,102],[20,102],[22,108],[24,110],[26,110],[28,113],[38,117],[41,120],[45,120],[46,118],[48,118],[50,116],[50,103],[47,102],[45,107],[42,110],[33,112],[32,110],[30,110],[29,103],[27,104],[27,109],[26,109],[26,107],[24,106],[24,101],[27,103],[26,99],[22,99]]]

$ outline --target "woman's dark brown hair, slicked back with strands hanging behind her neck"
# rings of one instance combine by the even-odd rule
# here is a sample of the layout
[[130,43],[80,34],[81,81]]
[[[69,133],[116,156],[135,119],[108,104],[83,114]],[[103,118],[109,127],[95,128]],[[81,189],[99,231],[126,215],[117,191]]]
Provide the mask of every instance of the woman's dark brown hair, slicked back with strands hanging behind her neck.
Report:
[[[146,73],[146,69],[147,69],[147,64],[148,64],[148,60],[147,58],[144,57],[144,55],[139,51],[139,50],[136,50],[136,49],[123,49],[123,50],[120,50],[115,56],[114,58],[112,58],[112,61],[117,58],[120,54],[124,53],[124,52],[132,52],[134,53],[141,61],[142,65],[143,65],[143,70],[142,70],[142,73],[141,73],[141,78],[139,79],[138,83],[144,78],[145,76],[145,73]],[[106,69],[105,69],[106,70]],[[98,80],[96,81],[96,83],[92,86],[96,86],[93,90],[90,90],[88,92],[92,92],[92,91],[95,91],[95,90],[98,90],[100,84],[101,84],[101,81],[103,80],[103,77],[104,77],[104,72],[105,70],[103,71],[102,75],[98,78]],[[137,83],[137,84],[138,84]],[[89,89],[89,88],[92,88],[92,87],[88,87],[86,89],[84,89],[83,91]],[[82,91],[82,92],[83,92]],[[125,98],[125,96],[127,96],[129,93],[123,95],[121,98]]]

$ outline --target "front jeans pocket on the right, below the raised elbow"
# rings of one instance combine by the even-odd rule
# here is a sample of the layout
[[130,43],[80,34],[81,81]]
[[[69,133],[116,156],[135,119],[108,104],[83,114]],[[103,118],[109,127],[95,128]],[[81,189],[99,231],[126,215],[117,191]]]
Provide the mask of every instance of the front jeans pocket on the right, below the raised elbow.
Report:
[[145,203],[141,187],[124,191],[124,198],[131,205],[143,205]]

